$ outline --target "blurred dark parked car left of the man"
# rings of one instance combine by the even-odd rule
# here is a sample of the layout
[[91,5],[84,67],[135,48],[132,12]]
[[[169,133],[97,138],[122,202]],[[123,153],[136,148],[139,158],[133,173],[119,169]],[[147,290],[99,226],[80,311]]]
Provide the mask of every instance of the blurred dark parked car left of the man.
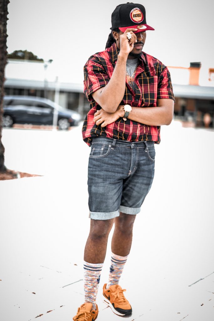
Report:
[[33,96],[4,96],[3,126],[13,124],[53,125],[54,109],[58,111],[58,128],[78,125],[80,115],[53,101]]

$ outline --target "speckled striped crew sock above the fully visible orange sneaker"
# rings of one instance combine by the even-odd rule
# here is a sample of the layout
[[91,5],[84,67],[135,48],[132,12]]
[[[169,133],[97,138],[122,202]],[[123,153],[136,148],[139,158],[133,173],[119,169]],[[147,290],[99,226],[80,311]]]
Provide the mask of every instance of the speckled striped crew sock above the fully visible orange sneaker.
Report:
[[110,285],[118,284],[120,276],[123,272],[124,265],[127,261],[127,256],[119,256],[111,252],[111,266],[109,273],[109,282],[106,285],[106,289],[110,287]]

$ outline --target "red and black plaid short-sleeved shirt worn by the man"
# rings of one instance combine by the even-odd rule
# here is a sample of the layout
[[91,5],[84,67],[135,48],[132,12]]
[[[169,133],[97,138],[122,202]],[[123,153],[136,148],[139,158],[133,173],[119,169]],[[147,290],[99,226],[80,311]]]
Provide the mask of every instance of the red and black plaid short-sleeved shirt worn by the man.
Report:
[[[136,121],[119,118],[115,122],[101,127],[94,122],[96,110],[101,109],[93,99],[92,93],[106,86],[119,54],[119,49],[114,43],[105,51],[91,56],[84,66],[84,92],[90,102],[90,110],[82,127],[83,140],[90,146],[92,138],[104,136],[126,141],[154,141],[160,143],[160,126],[149,126]],[[135,91],[126,82],[126,89],[120,105],[132,107],[156,107],[157,99],[169,98],[174,100],[169,70],[158,59],[142,52],[139,58],[134,82]]]

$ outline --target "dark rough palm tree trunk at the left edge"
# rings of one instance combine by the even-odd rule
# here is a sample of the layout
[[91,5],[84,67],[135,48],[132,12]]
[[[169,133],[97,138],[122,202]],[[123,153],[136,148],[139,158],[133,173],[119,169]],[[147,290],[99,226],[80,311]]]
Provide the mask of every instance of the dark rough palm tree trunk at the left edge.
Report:
[[0,0],[0,171],[4,172],[4,146],[2,144],[2,115],[4,97],[4,69],[7,63],[7,6],[9,0]]

